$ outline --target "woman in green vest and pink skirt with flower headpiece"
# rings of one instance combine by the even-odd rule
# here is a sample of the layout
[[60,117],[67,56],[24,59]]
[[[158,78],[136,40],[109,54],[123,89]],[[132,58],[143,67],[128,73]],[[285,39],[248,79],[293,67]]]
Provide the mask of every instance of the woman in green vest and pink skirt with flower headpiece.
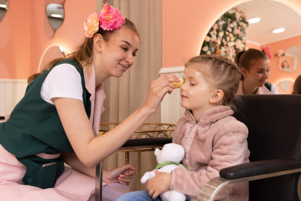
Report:
[[[84,31],[75,52],[29,79],[25,96],[0,123],[0,200],[93,200],[95,166],[129,139],[178,81],[171,75],[154,80],[144,105],[98,136],[102,83],[133,65],[139,37],[135,25],[107,3],[88,17]],[[105,183],[126,184],[135,171],[125,165],[103,173]]]

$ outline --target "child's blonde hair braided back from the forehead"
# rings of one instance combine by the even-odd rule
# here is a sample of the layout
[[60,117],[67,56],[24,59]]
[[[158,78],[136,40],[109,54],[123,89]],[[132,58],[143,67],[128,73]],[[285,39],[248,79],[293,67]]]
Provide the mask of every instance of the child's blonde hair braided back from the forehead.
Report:
[[224,91],[221,104],[230,106],[235,110],[236,107],[232,101],[236,98],[235,94],[240,81],[240,69],[226,57],[213,54],[192,57],[185,66],[187,67],[192,63],[199,64],[199,70],[203,74],[204,80],[212,87]]

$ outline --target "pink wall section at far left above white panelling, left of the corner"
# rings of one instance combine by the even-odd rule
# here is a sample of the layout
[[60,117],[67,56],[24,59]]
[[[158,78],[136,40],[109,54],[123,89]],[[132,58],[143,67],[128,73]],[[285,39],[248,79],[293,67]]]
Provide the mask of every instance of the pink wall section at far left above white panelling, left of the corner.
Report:
[[10,0],[9,9],[0,22],[0,78],[16,79],[29,75],[29,2]]

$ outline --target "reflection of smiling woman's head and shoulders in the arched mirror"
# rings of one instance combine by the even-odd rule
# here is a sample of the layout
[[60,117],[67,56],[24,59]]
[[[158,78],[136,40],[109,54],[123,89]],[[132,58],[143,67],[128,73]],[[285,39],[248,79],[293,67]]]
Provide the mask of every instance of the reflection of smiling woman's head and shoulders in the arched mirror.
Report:
[[278,94],[277,87],[266,80],[270,74],[269,59],[258,49],[238,52],[235,63],[241,69],[241,81],[236,95]]

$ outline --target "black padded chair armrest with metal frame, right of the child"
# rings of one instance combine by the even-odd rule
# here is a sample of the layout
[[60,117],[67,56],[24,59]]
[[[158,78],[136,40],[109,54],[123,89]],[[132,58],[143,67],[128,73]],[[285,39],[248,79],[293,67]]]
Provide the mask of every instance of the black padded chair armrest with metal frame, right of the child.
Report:
[[225,179],[238,179],[296,168],[301,168],[301,161],[294,159],[254,161],[221,169],[220,176]]

